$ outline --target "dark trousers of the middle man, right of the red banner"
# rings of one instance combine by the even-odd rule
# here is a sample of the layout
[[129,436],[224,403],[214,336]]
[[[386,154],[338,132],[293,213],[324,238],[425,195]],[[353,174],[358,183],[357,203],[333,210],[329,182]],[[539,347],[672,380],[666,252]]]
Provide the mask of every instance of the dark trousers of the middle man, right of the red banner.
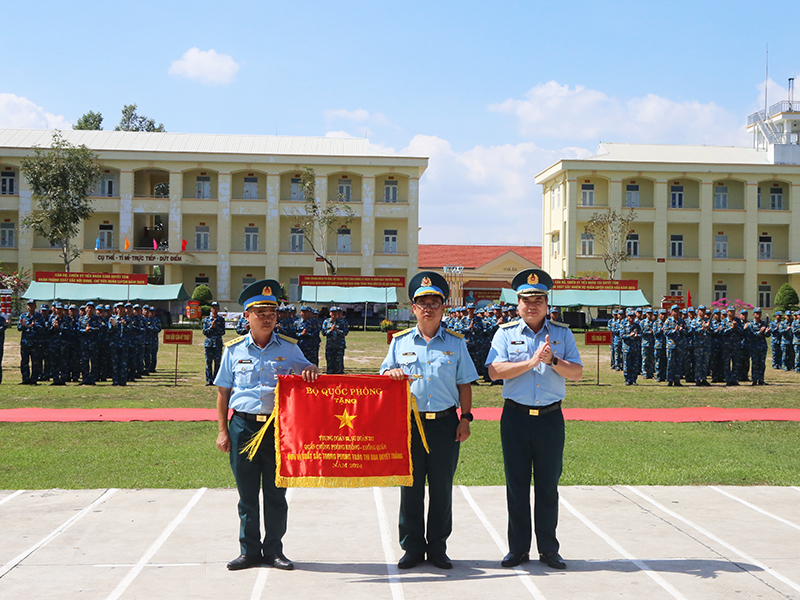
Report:
[[[416,419],[411,419],[414,484],[400,488],[400,547],[406,552],[438,554],[447,550],[453,531],[453,476],[458,466],[455,413],[423,420],[430,454],[425,452]],[[428,526],[425,527],[425,478],[428,479]]]

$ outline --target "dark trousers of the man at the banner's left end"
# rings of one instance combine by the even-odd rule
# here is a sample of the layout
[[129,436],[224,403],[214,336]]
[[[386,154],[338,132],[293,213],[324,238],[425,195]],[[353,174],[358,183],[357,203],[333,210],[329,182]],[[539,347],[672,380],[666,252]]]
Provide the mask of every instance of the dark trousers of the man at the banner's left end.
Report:
[[[228,426],[231,436],[231,470],[239,491],[239,545],[245,556],[283,552],[289,505],[286,488],[275,486],[275,425],[271,424],[252,461],[240,454],[263,423],[234,415]],[[264,541],[261,541],[259,492],[264,494]]]

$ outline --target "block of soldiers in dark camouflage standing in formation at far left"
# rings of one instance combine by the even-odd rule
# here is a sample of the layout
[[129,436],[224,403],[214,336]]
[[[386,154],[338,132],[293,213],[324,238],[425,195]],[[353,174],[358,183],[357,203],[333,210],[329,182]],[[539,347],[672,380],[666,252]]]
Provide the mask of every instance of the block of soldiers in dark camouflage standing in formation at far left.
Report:
[[156,370],[161,320],[152,306],[54,302],[52,310],[43,304],[37,311],[29,300],[17,329],[23,385],[49,380],[95,385],[111,379],[122,386]]

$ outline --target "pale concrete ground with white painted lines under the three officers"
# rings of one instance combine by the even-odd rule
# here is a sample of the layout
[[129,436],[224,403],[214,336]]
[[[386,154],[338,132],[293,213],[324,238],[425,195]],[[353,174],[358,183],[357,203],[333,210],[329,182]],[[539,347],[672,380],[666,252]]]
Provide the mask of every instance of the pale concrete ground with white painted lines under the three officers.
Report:
[[562,487],[567,570],[500,566],[505,490],[454,490],[448,554],[399,571],[396,488],[290,489],[295,570],[230,572],[236,491],[0,492],[0,598],[800,599],[798,487]]

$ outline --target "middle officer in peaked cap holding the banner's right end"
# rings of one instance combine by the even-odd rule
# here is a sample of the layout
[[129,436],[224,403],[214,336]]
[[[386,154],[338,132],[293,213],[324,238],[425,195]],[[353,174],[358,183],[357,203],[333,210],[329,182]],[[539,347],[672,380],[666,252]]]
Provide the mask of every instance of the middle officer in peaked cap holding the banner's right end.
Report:
[[[411,461],[414,483],[400,489],[401,569],[428,561],[451,569],[447,538],[453,529],[453,476],[460,443],[470,435],[471,383],[478,378],[464,336],[442,326],[450,288],[433,271],[417,273],[408,297],[416,327],[396,333],[381,363],[381,374],[411,379],[411,395],[422,417],[430,454],[426,453],[416,419],[411,420]],[[456,414],[460,407],[461,416]],[[425,526],[425,480],[428,516]]]

